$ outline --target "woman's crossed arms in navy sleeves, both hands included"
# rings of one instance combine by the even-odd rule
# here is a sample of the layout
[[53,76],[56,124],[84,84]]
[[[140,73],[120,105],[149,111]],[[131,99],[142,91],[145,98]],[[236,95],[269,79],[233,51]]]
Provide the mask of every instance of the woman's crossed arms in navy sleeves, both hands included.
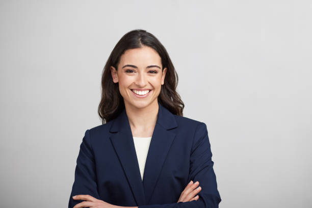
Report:
[[[90,148],[89,130],[81,144],[81,150],[77,159],[77,166],[75,170],[75,181],[83,181],[81,184],[74,186],[87,186],[91,191],[90,195],[76,195],[72,197],[73,200],[85,200],[73,206],[80,207],[102,207],[102,208],[217,208],[221,201],[221,197],[217,190],[216,175],[213,170],[214,162],[212,161],[212,152],[208,137],[208,132],[205,123],[200,122],[197,126],[191,155],[190,155],[190,177],[193,181],[199,181],[201,189],[195,189],[198,184],[189,184],[181,193],[177,203],[168,204],[151,204],[141,206],[117,206],[105,201],[99,200],[97,193],[97,185],[95,183],[95,170],[93,153]],[[92,163],[83,163],[86,158]],[[84,159],[84,160],[82,160]],[[86,180],[87,178],[87,180]],[[194,190],[195,189],[195,190]],[[195,195],[198,193],[197,198]],[[71,208],[73,200],[69,199],[68,207]]]

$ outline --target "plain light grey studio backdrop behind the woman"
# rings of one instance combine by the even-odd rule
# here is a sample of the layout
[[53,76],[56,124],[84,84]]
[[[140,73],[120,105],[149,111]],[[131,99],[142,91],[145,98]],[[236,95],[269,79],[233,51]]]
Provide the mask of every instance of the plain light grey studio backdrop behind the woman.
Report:
[[167,48],[220,207],[312,207],[311,1],[1,1],[1,207],[67,207],[117,41]]

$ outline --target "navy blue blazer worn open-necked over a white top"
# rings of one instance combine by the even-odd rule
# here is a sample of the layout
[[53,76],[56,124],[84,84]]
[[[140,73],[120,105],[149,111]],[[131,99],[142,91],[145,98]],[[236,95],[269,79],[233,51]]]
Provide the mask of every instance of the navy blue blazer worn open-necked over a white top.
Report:
[[[84,194],[139,208],[218,207],[212,152],[205,123],[172,114],[159,104],[143,181],[125,109],[117,118],[87,129],[80,145],[68,207]],[[179,202],[189,181],[198,180],[199,199]]]

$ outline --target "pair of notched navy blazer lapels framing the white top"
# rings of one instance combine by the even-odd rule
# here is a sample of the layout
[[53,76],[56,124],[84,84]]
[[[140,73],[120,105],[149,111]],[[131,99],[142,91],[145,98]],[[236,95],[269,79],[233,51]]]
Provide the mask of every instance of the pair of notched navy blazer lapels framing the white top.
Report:
[[[125,109],[112,120],[111,142],[132,189],[137,206],[148,204],[169,148],[176,136],[170,129],[177,127],[174,115],[158,102],[159,111],[150,141],[143,181],[134,145],[133,135]],[[161,181],[158,181],[161,183]]]

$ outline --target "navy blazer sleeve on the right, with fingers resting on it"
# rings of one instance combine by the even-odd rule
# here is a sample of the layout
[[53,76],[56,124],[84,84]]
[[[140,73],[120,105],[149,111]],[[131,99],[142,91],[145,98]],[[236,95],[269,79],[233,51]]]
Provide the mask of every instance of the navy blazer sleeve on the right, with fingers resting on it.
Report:
[[[217,208],[221,197],[217,189],[216,175],[213,169],[212,152],[206,124],[200,122],[196,127],[191,155],[189,180],[198,180],[201,191],[199,199],[168,204],[142,205],[138,208]],[[188,181],[189,181],[188,180]]]

